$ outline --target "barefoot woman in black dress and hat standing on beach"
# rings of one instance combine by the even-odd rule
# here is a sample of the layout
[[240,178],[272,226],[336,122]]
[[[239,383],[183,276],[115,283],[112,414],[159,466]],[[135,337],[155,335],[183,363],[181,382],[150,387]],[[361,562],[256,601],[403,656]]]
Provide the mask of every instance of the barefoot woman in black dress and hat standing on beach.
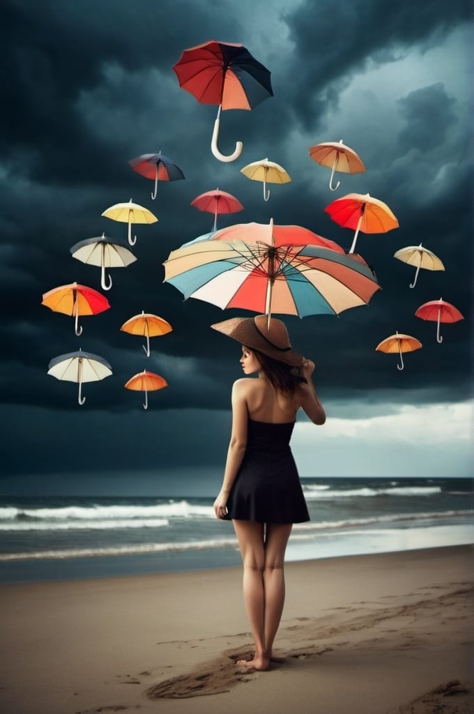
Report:
[[296,412],[315,424],[326,414],[311,374],[280,320],[258,315],[212,325],[241,343],[246,376],[232,388],[232,433],[216,518],[232,519],[243,561],[243,598],[255,656],[239,664],[266,670],[283,612],[283,560],[293,523],[309,521],[289,441]]

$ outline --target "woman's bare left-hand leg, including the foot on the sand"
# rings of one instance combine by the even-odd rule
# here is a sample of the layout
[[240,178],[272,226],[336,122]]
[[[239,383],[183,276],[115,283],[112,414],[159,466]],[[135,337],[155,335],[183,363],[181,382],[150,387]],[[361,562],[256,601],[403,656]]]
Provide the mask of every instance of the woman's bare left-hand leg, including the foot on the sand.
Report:
[[263,544],[263,523],[255,521],[233,521],[243,563],[243,601],[250,622],[255,656],[253,660],[241,660],[238,664],[268,669],[270,660],[265,649],[265,593],[263,591],[263,568],[265,550]]

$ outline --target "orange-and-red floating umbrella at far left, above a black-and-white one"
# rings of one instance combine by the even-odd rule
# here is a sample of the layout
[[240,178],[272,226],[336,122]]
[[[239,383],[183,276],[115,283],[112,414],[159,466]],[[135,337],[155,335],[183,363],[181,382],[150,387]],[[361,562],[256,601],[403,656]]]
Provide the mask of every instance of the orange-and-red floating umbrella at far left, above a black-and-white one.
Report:
[[41,305],[46,305],[54,312],[73,316],[74,329],[78,337],[82,333],[82,327],[79,327],[79,315],[98,315],[110,308],[109,301],[104,295],[94,288],[78,283],[61,285],[49,290],[44,293]]

